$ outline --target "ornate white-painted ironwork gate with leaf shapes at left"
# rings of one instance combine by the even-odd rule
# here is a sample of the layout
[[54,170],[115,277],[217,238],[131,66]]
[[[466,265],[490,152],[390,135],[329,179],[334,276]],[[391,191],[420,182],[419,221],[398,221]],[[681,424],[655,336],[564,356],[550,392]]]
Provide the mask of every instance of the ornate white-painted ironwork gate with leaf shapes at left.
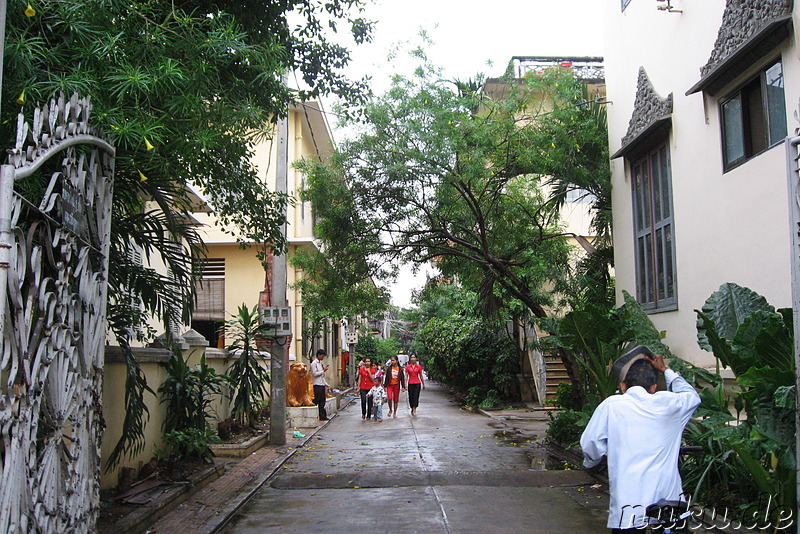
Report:
[[0,532],[95,528],[114,147],[90,110],[20,114],[0,172]]

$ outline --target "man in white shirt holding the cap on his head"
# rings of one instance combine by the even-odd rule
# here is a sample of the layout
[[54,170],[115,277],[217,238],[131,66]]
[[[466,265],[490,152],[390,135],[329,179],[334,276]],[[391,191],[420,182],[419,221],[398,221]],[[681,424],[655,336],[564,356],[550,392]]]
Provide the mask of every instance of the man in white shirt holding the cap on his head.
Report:
[[[613,533],[642,532],[645,509],[660,500],[685,500],[678,472],[681,435],[700,404],[700,396],[660,354],[639,346],[611,368],[622,395],[612,395],[595,410],[581,436],[583,465],[608,458],[611,499],[608,528]],[[658,373],[667,391],[656,392]]]

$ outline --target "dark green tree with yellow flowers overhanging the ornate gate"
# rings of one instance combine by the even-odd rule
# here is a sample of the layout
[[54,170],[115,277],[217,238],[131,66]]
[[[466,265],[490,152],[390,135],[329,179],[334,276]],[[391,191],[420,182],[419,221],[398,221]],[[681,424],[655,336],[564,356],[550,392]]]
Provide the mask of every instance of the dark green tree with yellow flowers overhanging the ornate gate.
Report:
[[[34,4],[35,13],[22,0],[8,6],[5,145],[12,146],[19,110],[12,103],[29,114],[27,103],[78,92],[91,96],[95,121],[117,148],[109,321],[127,354],[128,379],[123,436],[107,463],[114,465],[144,445],[142,396],[151,390],[130,350],[136,308],[168,328],[191,312],[203,247],[182,216],[192,209],[187,185],[199,186],[244,241],[280,253],[286,199],[251,167],[254,143],[296,99],[335,93],[358,101],[366,94],[363,82],[343,75],[347,50],[326,35],[346,26],[357,44],[369,39],[371,25],[357,16],[360,0]],[[289,71],[309,88],[293,94],[283,83]],[[36,177],[30,181],[21,187],[41,187]],[[138,265],[132,246],[169,274]]]

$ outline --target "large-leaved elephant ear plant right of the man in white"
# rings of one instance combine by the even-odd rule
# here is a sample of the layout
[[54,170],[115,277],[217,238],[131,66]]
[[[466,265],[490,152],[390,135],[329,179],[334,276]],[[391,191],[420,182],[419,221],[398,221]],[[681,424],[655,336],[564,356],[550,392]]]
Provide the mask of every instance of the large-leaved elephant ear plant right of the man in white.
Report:
[[[795,361],[792,311],[776,310],[758,293],[726,283],[697,312],[700,347],[731,369],[741,391],[733,405],[746,414],[738,425],[716,434],[741,460],[750,485],[776,505],[793,509],[796,494]],[[718,392],[717,405],[727,407]],[[704,399],[713,400],[712,396]],[[733,419],[733,417],[730,417]],[[700,426],[720,427],[714,418]],[[698,481],[698,485],[702,480]]]

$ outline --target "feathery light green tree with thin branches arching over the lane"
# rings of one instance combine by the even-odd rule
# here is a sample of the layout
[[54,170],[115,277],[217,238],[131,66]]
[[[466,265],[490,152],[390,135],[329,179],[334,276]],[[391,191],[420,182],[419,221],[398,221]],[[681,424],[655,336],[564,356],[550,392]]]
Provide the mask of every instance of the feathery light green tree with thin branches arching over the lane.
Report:
[[312,197],[337,191],[342,199],[315,204],[341,228],[332,248],[358,247],[384,262],[436,260],[477,288],[485,309],[516,300],[545,316],[545,288],[565,276],[569,249],[542,193],[539,120],[575,107],[580,95],[571,75],[550,78],[504,80],[508,90],[493,98],[481,78],[446,82],[427,63],[395,76],[364,106],[363,133],[330,165],[304,169]]

